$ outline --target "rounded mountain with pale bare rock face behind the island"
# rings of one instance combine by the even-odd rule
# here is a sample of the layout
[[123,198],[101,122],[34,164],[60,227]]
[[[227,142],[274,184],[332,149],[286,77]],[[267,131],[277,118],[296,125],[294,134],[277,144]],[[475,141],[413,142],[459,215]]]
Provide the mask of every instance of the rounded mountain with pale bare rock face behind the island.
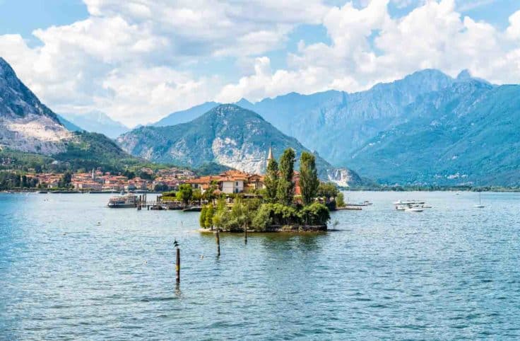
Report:
[[[260,115],[234,104],[223,104],[187,123],[140,127],[123,134],[117,143],[129,154],[158,163],[199,168],[213,162],[249,173],[264,173],[267,151],[278,158],[292,148],[297,156],[309,151]],[[297,166],[297,165],[296,165]],[[320,178],[341,185],[360,183],[358,174],[336,169],[317,156]]]

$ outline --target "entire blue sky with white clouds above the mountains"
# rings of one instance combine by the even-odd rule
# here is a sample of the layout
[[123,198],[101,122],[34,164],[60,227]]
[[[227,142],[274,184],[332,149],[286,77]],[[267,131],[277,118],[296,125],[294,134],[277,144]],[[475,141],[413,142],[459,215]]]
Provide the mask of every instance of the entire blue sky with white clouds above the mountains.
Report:
[[0,0],[0,56],[57,112],[128,125],[206,100],[410,72],[520,82],[520,1]]

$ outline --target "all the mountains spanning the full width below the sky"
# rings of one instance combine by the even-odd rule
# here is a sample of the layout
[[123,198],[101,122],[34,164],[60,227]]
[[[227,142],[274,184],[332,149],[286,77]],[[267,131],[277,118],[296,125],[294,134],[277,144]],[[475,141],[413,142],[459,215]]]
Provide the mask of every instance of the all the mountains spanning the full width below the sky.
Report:
[[[360,183],[354,169],[390,185],[518,186],[519,95],[518,85],[427,69],[359,93],[203,103],[126,132],[99,112],[81,122],[76,115],[55,114],[0,57],[0,149],[76,163],[146,158],[258,172],[269,146],[277,156],[290,147],[298,154],[312,151],[321,178],[342,184]],[[112,137],[124,134],[115,144],[85,132],[101,129]]]

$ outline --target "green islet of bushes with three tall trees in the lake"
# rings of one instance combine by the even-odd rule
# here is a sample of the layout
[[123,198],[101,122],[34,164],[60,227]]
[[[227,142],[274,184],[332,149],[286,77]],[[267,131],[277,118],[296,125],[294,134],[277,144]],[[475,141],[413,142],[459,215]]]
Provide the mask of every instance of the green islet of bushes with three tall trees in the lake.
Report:
[[[232,202],[220,197],[203,205],[201,231],[326,231],[329,207],[343,205],[343,196],[335,185],[319,182],[314,155],[303,151],[300,171],[294,166],[293,149],[285,149],[279,162],[269,151],[264,188],[256,195],[236,195]],[[325,202],[319,194],[324,194]]]

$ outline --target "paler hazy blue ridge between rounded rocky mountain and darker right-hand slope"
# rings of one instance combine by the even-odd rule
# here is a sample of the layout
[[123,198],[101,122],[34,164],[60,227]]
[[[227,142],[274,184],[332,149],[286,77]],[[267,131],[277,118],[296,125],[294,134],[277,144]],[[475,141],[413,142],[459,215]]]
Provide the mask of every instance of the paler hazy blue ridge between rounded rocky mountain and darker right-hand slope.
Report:
[[[348,166],[350,154],[365,141],[404,122],[407,119],[404,109],[418,96],[446,88],[453,81],[441,71],[427,69],[359,93],[288,93],[257,103],[242,99],[237,105],[259,113],[281,132],[318,151],[331,163]],[[203,113],[198,108],[216,105],[218,103],[208,102],[174,112],[154,125],[165,125],[181,117],[193,120]]]

